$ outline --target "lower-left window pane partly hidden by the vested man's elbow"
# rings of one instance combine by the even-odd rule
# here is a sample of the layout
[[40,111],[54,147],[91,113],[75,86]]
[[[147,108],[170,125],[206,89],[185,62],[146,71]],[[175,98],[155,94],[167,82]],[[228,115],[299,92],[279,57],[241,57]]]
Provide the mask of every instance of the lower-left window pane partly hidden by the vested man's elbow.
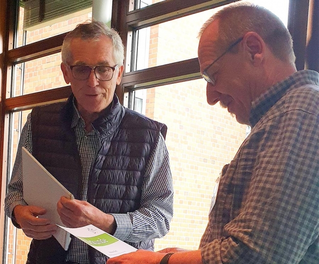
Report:
[[[20,112],[14,112],[11,114],[11,142],[10,142],[10,168],[9,175],[11,176],[12,167],[14,164],[18,141],[21,133],[21,129],[27,122],[28,114],[31,110],[25,110]],[[15,228],[10,219],[7,219],[7,252],[5,252],[6,262],[8,264],[20,263],[24,264],[27,261],[27,254],[31,243],[31,238],[24,235],[22,229]]]

